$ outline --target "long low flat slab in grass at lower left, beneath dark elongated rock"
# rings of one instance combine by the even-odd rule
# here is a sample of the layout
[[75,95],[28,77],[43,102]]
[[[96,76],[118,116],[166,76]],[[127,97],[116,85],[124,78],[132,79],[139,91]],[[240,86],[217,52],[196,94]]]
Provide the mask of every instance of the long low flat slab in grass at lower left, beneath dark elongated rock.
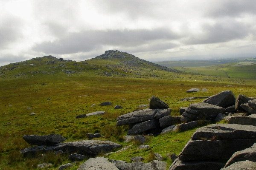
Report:
[[28,147],[20,151],[24,156],[35,155],[38,151],[46,153],[49,151],[64,150],[69,153],[78,153],[81,155],[95,157],[100,153],[107,153],[115,148],[121,147],[121,144],[116,144],[111,141],[99,141],[99,140],[83,140],[76,142],[65,142],[54,144],[52,146],[36,146]]

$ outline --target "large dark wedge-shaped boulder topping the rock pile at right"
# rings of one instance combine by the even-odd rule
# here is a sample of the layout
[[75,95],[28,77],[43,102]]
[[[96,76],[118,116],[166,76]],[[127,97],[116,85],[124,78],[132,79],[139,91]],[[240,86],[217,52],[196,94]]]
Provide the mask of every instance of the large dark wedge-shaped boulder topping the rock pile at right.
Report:
[[220,106],[222,108],[227,108],[234,105],[236,102],[236,97],[232,91],[221,91],[218,94],[210,96],[203,101],[204,103],[209,103],[211,105]]

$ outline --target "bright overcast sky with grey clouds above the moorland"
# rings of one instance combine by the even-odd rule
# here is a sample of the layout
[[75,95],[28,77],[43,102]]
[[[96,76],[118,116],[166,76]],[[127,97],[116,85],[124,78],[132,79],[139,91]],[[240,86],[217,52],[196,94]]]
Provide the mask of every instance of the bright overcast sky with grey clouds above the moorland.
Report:
[[107,50],[153,62],[256,57],[255,9],[255,0],[0,0],[0,66]]

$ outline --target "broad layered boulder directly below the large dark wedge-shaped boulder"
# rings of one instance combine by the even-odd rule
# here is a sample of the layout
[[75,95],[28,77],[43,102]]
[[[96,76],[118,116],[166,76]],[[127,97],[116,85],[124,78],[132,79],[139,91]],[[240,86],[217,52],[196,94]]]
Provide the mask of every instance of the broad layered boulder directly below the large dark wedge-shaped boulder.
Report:
[[192,121],[203,119],[214,120],[219,113],[225,113],[225,109],[202,102],[189,105],[182,116],[188,117]]

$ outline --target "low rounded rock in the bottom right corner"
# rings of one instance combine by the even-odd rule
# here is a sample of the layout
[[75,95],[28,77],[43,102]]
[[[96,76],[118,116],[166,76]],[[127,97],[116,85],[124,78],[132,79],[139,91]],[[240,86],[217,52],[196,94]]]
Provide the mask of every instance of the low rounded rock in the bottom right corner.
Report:
[[255,170],[256,162],[253,161],[239,161],[231,164],[221,170]]

